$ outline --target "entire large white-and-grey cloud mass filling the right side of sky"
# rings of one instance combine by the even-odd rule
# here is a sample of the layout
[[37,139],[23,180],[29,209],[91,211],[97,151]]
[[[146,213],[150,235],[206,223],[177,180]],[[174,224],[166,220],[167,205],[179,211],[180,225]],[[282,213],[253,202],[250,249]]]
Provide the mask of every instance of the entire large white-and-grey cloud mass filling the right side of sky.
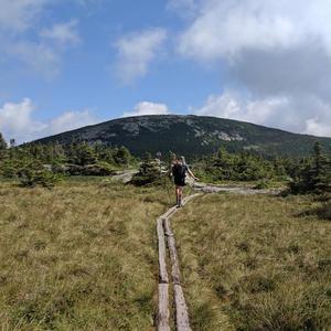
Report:
[[[211,97],[202,111],[330,135],[331,0],[195,4],[178,40],[180,54],[209,66],[221,63],[225,88],[237,87],[235,95]],[[211,110],[215,105],[218,110]]]

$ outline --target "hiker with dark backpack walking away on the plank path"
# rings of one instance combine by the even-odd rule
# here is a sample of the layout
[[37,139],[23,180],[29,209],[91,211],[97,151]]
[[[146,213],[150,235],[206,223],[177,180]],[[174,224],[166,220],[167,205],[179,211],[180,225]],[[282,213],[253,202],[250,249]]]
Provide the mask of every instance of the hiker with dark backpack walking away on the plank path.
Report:
[[189,169],[185,158],[178,158],[171,167],[174,184],[175,184],[175,199],[177,199],[177,207],[182,206],[182,196],[183,196],[183,186],[185,186],[185,177],[186,172],[195,180],[199,179],[193,174],[193,172]]

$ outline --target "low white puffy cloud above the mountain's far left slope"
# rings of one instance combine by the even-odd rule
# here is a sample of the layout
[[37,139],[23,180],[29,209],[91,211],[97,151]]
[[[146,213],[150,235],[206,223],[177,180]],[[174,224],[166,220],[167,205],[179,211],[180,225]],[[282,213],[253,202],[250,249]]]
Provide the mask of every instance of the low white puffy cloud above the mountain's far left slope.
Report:
[[24,142],[97,122],[89,110],[65,111],[49,121],[35,120],[35,110],[29,98],[21,103],[6,103],[0,106],[0,131],[8,139],[15,138],[18,142]]

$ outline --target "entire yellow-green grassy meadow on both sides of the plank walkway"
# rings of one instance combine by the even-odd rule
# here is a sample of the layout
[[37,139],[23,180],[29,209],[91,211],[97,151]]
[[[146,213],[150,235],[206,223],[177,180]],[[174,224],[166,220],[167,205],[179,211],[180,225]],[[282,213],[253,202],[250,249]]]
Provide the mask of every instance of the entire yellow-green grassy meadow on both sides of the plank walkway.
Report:
[[[0,330],[153,330],[168,189],[0,182]],[[331,223],[311,207],[211,194],[174,216],[194,331],[328,330]]]

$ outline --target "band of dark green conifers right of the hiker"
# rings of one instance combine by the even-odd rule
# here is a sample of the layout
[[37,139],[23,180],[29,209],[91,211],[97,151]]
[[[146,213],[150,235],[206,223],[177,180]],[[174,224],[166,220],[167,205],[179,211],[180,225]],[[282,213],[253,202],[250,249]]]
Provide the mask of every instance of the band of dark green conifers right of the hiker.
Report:
[[242,151],[229,153],[224,148],[196,162],[199,177],[211,182],[249,181],[260,188],[269,182],[287,182],[290,193],[331,191],[331,150],[316,142],[308,158],[268,157]]

